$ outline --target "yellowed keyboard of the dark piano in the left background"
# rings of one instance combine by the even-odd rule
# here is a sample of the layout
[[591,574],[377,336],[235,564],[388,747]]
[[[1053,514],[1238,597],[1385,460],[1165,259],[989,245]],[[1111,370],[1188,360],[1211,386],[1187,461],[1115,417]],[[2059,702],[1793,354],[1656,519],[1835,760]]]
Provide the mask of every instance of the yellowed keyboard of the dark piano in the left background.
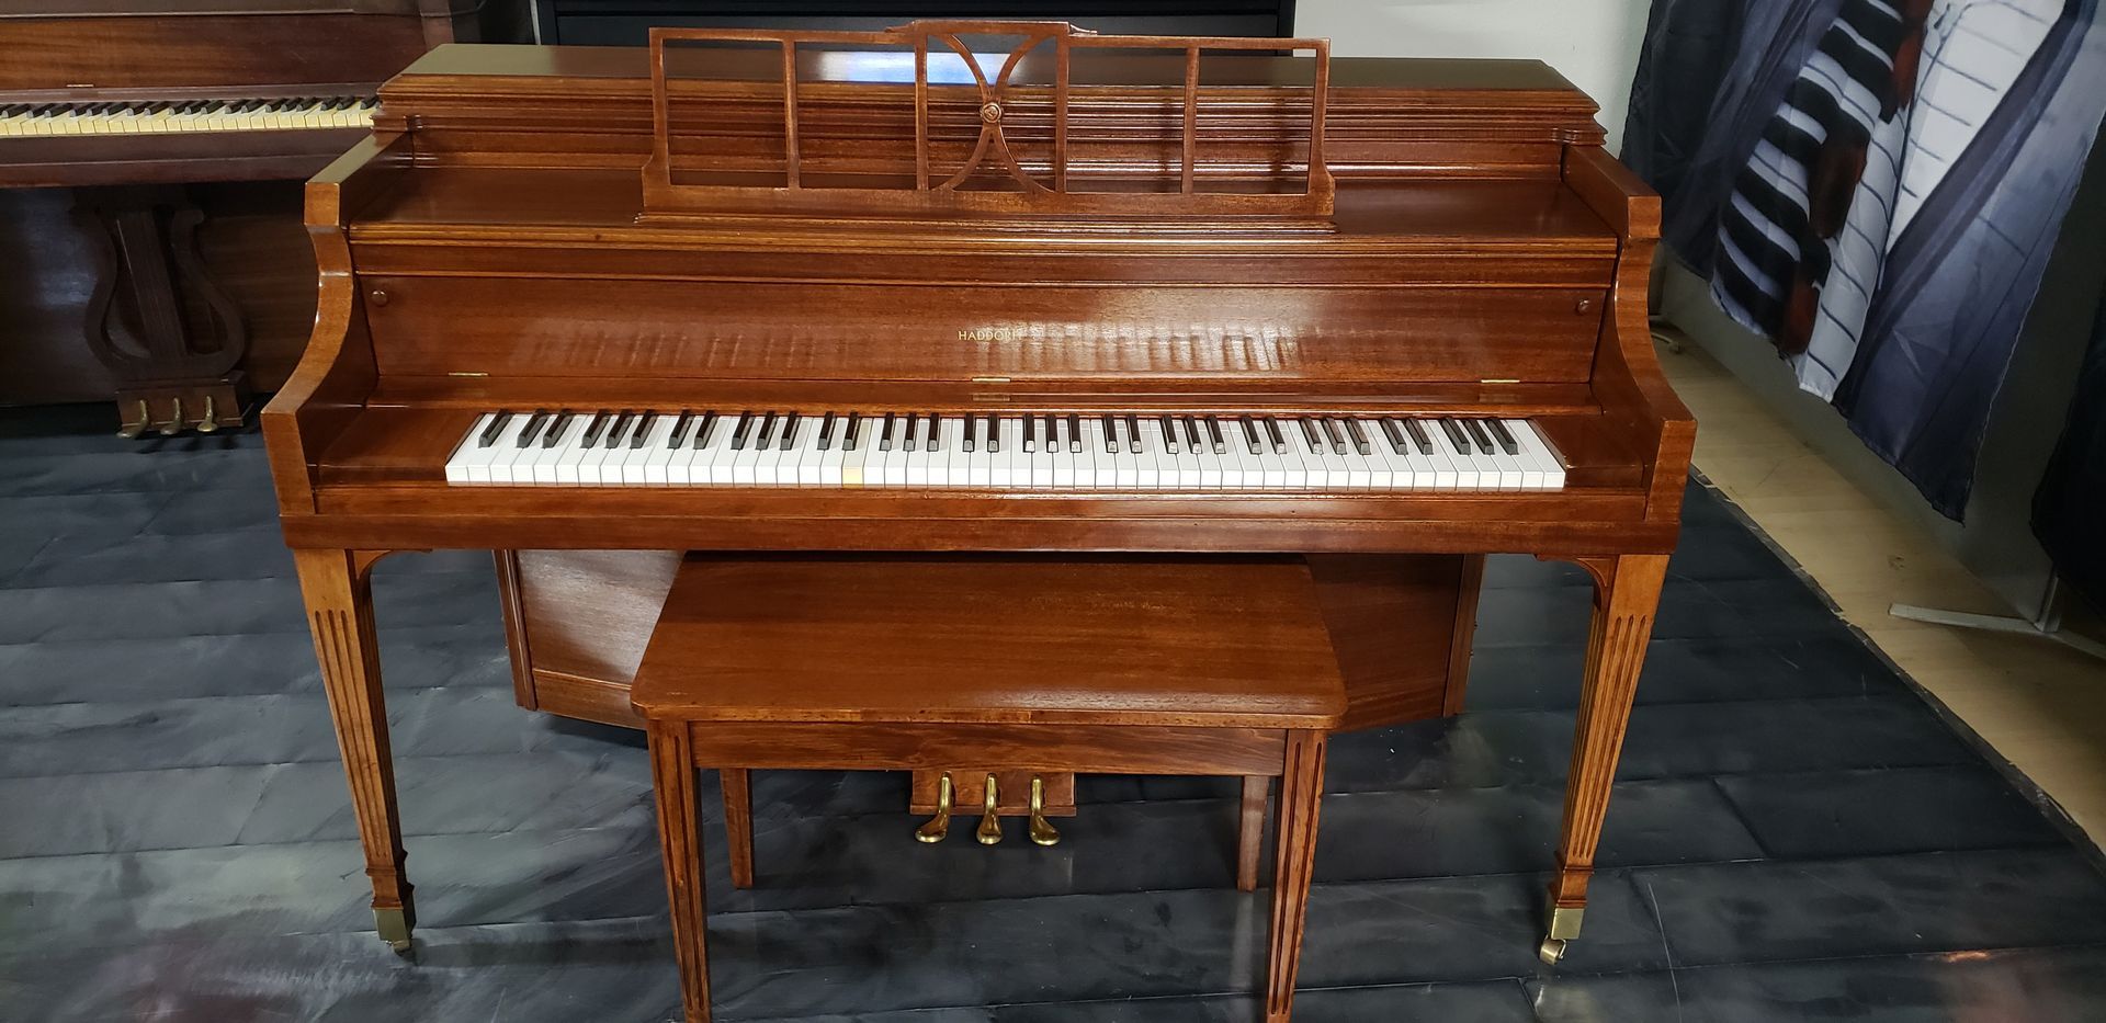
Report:
[[371,128],[373,97],[137,99],[4,103],[0,139],[198,131]]

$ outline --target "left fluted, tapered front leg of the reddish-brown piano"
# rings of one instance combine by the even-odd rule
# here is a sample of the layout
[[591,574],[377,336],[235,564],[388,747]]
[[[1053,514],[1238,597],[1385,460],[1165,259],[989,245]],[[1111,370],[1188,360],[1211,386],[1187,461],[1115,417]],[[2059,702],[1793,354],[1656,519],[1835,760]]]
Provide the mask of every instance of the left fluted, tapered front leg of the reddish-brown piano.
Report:
[[383,941],[409,951],[417,905],[402,871],[402,819],[396,810],[394,760],[388,751],[388,707],[381,699],[381,657],[373,629],[371,568],[388,551],[295,549],[299,594],[307,602],[314,655],[322,663],[329,718],[352,783],[358,842],[373,880],[373,920]]

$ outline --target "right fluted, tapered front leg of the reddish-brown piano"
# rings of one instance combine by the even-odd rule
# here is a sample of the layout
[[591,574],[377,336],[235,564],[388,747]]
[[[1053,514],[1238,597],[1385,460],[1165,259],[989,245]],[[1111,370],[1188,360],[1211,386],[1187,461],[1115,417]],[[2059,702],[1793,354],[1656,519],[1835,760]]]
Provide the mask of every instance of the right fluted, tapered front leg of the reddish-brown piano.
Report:
[[1609,810],[1609,785],[1630,724],[1630,699],[1645,667],[1645,644],[1653,636],[1660,585],[1668,577],[1668,556],[1628,554],[1617,558],[1575,558],[1594,575],[1594,627],[1586,646],[1586,680],[1580,688],[1580,724],[1573,730],[1573,762],[1565,781],[1565,827],[1558,838],[1556,876],[1550,880],[1550,926],[1539,949],[1544,962],[1558,962],[1565,943],[1580,937],[1586,914],[1586,884],[1594,876],[1594,846]]

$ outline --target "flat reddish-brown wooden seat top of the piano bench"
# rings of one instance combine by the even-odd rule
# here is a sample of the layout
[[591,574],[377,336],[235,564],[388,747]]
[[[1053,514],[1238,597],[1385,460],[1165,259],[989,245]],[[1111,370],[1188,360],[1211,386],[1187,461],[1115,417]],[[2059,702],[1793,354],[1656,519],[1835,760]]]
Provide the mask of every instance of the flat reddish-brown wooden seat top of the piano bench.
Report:
[[693,722],[1333,728],[1302,558],[716,556],[630,693]]

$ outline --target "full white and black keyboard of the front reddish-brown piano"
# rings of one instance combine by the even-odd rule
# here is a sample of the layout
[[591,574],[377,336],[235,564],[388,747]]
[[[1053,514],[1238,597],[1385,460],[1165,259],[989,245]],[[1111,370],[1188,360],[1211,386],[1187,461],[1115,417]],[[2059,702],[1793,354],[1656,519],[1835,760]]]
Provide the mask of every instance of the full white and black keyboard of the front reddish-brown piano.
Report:
[[1561,490],[1527,419],[484,413],[449,484],[967,490]]

